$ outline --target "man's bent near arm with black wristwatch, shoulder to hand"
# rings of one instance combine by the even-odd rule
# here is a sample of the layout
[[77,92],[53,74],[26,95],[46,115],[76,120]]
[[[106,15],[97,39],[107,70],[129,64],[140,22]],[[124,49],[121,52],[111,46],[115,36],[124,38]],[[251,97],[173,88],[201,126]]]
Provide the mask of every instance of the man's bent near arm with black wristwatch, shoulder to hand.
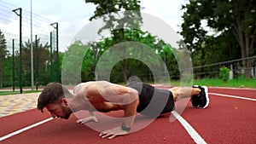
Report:
[[117,135],[128,134],[137,113],[137,105],[139,103],[137,90],[101,81],[96,82],[93,86],[91,85],[86,92],[87,96],[100,95],[102,100],[119,105],[124,110],[123,124],[112,130],[103,131],[100,136],[112,139]]

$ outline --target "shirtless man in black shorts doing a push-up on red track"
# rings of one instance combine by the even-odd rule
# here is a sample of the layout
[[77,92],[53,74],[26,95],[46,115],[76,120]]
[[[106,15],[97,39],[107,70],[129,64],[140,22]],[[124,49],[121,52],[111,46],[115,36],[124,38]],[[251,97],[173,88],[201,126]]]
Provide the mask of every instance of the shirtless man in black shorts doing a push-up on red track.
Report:
[[[65,119],[68,119],[73,112],[88,110],[90,116],[77,121],[82,124],[98,121],[94,111],[123,110],[123,124],[100,133],[102,138],[112,139],[115,136],[129,133],[137,112],[147,116],[172,112],[174,102],[185,97],[191,97],[190,101],[193,107],[206,108],[209,104],[205,86],[156,89],[149,84],[142,83],[131,83],[126,87],[106,81],[96,81],[78,84],[74,87],[72,95],[61,84],[50,83],[38,97],[38,110],[43,112],[46,107],[53,118]],[[158,106],[165,107],[159,110]]]

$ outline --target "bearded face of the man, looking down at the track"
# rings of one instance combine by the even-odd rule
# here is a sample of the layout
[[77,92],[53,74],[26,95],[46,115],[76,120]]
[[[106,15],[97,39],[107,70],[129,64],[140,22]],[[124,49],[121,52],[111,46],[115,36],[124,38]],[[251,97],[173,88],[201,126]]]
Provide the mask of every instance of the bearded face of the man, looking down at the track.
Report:
[[63,106],[61,103],[50,103],[45,107],[50,112],[52,118],[68,119],[72,113],[69,107]]

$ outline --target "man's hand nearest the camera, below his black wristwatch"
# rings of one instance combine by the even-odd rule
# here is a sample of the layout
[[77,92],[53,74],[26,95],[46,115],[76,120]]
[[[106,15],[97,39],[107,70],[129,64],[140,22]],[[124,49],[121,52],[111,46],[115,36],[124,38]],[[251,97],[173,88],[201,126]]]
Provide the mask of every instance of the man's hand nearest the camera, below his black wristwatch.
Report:
[[122,130],[121,127],[116,127],[112,130],[103,131],[99,136],[101,136],[102,138],[108,137],[108,139],[113,139],[118,135],[127,135],[128,133],[128,131]]

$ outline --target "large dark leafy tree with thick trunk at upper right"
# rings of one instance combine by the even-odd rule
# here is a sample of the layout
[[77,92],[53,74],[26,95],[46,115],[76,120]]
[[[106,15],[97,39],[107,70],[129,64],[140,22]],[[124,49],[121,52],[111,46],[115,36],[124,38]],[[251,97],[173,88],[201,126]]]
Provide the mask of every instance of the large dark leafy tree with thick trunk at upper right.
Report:
[[[241,58],[253,56],[256,37],[256,3],[253,0],[189,0],[183,5],[183,32],[184,42],[191,48],[201,49],[207,36],[206,26],[216,31],[214,37],[224,37],[224,32],[230,32],[236,37],[241,50]],[[202,26],[203,23],[206,26]],[[219,35],[220,33],[220,35]],[[224,37],[227,43],[234,43]],[[245,78],[251,77],[251,60],[243,60]]]

